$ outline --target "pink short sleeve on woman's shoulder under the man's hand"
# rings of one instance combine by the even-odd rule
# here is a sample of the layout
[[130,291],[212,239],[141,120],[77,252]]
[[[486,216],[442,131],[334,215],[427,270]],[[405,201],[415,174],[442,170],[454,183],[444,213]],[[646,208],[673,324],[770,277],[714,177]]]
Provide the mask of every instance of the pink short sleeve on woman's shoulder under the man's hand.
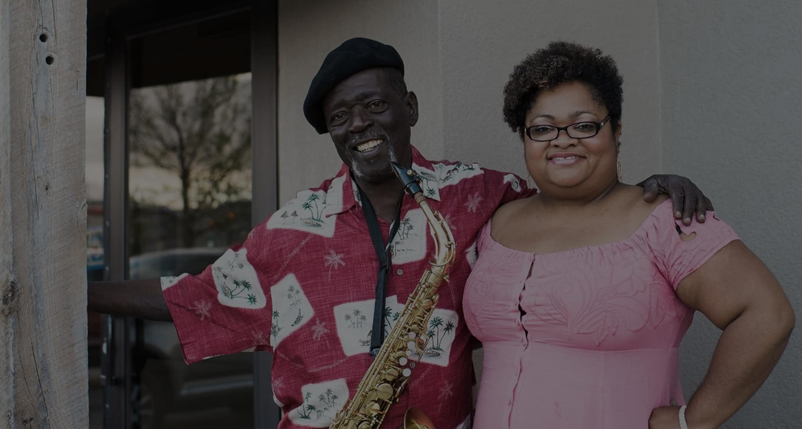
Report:
[[[699,269],[725,245],[738,240],[738,236],[715,216],[715,212],[707,212],[704,223],[694,220],[686,226],[674,219],[672,207],[671,200],[660,204],[644,228],[655,265],[676,289],[688,274]],[[683,241],[680,233],[687,234],[690,240]]]

